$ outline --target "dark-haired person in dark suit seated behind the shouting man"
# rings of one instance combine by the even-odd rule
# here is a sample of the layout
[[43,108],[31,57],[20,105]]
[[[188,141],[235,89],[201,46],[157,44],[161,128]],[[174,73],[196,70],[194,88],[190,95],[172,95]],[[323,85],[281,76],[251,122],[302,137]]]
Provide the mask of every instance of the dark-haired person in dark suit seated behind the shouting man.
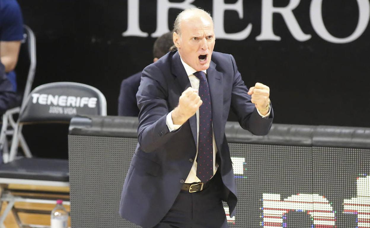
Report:
[[[153,62],[164,56],[172,45],[172,32],[158,37],[153,45]],[[141,71],[122,80],[118,96],[118,116],[139,116],[136,93],[140,85],[140,78]]]

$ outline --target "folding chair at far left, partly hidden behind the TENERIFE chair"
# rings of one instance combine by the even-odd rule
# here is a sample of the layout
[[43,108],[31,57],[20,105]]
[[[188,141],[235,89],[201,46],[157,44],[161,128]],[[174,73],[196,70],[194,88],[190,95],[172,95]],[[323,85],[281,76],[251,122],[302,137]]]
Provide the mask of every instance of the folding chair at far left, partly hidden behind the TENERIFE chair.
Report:
[[[27,80],[26,84],[24,84],[24,91],[22,96],[21,106],[24,105],[28,94],[31,91],[31,87],[33,84],[33,79],[36,71],[36,38],[31,30],[30,27],[27,25],[23,25],[24,34],[23,34],[23,41],[20,48],[19,59],[18,59],[18,67],[24,67],[23,62],[27,62],[29,65],[27,71]],[[24,61],[23,61],[24,60]],[[17,71],[18,73],[19,71]],[[17,78],[22,78],[20,74],[18,74]],[[9,148],[7,144],[7,136],[13,135],[14,128],[16,126],[16,122],[14,121],[13,115],[19,113],[21,107],[15,107],[12,109],[7,110],[2,116],[2,125],[1,125],[1,132],[0,132],[0,152],[3,152],[3,161],[7,163],[9,161]],[[31,157],[30,150],[25,143],[22,134],[18,135],[20,143],[22,147],[24,147],[24,152],[26,157]],[[1,154],[1,153],[0,153]]]

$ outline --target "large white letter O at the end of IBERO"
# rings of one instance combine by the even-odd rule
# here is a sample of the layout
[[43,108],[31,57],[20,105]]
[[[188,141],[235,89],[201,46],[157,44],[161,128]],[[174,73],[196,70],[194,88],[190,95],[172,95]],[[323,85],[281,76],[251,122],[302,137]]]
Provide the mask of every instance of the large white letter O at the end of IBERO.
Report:
[[310,19],[313,29],[316,31],[317,35],[324,40],[336,44],[344,44],[356,40],[366,30],[370,18],[369,0],[357,0],[359,6],[359,21],[354,32],[349,37],[345,38],[334,37],[326,30],[322,16],[322,1],[323,0],[312,0],[310,6]]

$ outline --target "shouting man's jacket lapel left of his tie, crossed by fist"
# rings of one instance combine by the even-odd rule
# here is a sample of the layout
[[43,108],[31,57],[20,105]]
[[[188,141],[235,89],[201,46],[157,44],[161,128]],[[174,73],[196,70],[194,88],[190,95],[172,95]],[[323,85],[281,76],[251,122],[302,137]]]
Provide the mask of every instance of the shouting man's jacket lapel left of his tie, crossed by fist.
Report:
[[[182,92],[184,92],[185,89],[187,89],[188,87],[191,87],[191,84],[190,84],[190,81],[189,81],[189,77],[186,74],[184,65],[182,65],[179,52],[176,52],[172,56],[171,66],[172,66],[171,67],[172,74],[174,74],[175,77],[176,77],[175,80],[179,84],[180,94],[181,94]],[[191,132],[193,134],[194,143],[196,145],[196,116],[195,115],[193,115],[189,119],[189,124],[190,124],[190,127],[191,127]]]

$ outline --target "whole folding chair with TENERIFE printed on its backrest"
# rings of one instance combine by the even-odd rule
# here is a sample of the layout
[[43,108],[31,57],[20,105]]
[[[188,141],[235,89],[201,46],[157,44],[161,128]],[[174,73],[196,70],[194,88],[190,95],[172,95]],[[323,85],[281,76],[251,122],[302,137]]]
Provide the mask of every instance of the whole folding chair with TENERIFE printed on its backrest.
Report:
[[[104,95],[96,88],[75,82],[54,82],[35,88],[25,101],[14,128],[9,163],[0,166],[1,204],[6,201],[7,207],[0,216],[0,227],[9,214],[13,212],[19,227],[23,225],[15,202],[53,203],[55,197],[24,197],[19,193],[41,193],[45,191],[17,190],[13,194],[9,184],[27,184],[42,186],[69,186],[68,160],[22,157],[16,159],[20,142],[20,133],[24,124],[66,123],[75,115],[107,115],[107,104]],[[66,148],[67,150],[67,148]],[[67,152],[66,152],[67,153]],[[54,193],[54,192],[53,192]],[[67,204],[69,202],[67,201]],[[1,208],[0,208],[1,209]],[[25,210],[21,210],[24,212]],[[49,211],[27,210],[30,213],[50,213]],[[32,227],[32,226],[31,226]],[[36,226],[34,226],[36,227]],[[40,227],[40,226],[37,226]]]

